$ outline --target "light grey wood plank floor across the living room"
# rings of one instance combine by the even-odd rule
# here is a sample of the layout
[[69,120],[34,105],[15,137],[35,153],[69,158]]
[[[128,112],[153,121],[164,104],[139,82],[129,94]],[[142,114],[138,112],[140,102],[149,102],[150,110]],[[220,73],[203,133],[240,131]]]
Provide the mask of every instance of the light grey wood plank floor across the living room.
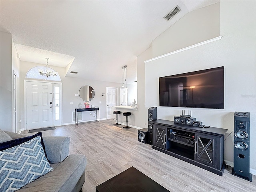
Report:
[[102,120],[42,132],[43,136],[69,136],[70,154],[86,155],[83,192],[95,192],[96,186],[131,166],[171,192],[256,192],[254,175],[249,182],[233,176],[229,168],[218,176],[138,142],[137,129],[123,129],[114,123]]

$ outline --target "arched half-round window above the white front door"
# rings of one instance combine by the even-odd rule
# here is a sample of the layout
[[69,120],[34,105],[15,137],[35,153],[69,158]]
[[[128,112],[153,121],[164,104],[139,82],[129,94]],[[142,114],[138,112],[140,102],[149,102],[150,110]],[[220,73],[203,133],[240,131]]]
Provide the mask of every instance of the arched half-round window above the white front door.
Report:
[[[26,78],[43,79],[43,80],[51,80],[51,81],[61,81],[59,74],[57,74],[56,76],[48,76],[48,77],[46,77],[45,75],[40,75],[38,73],[38,69],[46,70],[46,66],[36,66],[36,67],[31,68],[27,72]],[[53,69],[48,67],[48,70],[53,70]]]

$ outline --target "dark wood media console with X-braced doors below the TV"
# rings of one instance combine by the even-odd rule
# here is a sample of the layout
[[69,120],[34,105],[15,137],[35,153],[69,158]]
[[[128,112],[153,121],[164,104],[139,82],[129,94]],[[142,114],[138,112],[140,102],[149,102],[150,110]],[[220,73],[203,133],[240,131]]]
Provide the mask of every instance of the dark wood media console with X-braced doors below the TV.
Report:
[[227,129],[199,128],[168,120],[153,120],[152,148],[200,168],[223,175]]

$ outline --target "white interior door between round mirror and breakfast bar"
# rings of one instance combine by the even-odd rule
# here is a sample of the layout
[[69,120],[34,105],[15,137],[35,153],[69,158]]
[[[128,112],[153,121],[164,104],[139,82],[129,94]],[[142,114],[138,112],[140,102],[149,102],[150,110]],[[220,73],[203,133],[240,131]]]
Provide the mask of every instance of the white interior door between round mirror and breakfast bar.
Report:
[[117,88],[107,87],[107,119],[115,118],[114,107],[117,106]]

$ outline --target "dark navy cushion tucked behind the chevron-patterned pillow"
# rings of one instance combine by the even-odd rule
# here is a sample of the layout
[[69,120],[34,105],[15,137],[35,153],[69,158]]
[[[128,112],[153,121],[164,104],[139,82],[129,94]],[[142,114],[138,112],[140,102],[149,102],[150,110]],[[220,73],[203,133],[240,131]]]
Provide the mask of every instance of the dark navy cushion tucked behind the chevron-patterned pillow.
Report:
[[[27,142],[27,141],[29,141],[32,138],[35,138],[37,136],[40,136],[40,138],[41,138],[41,145],[42,145],[42,147],[44,149],[44,155],[46,156],[46,159],[47,159],[47,154],[46,154],[46,151],[45,151],[45,146],[44,146],[44,140],[43,140],[43,137],[42,137],[42,132],[38,132],[38,133],[36,133],[36,134],[34,134],[32,136],[22,137],[22,138],[18,138],[18,139],[14,139],[14,140],[9,140],[9,141],[3,142],[0,145],[0,151],[6,150],[6,149],[14,147],[14,146],[18,146],[19,144]],[[49,161],[49,163],[50,163],[50,161]]]

